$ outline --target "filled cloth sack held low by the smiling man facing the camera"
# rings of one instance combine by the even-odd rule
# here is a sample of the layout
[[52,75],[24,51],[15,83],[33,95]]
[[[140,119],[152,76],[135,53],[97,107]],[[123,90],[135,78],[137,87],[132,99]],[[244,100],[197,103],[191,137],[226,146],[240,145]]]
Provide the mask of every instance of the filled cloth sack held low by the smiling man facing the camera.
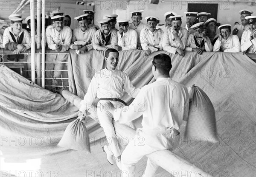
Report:
[[79,117],[67,126],[59,146],[77,151],[90,152],[90,142],[85,124]]

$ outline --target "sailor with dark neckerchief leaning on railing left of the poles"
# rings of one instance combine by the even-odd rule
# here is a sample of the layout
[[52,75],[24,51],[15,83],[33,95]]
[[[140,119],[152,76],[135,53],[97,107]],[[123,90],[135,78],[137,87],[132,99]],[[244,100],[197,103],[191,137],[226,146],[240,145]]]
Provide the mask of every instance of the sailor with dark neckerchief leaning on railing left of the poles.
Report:
[[[20,17],[9,17],[11,26],[3,32],[3,48],[13,51],[16,55],[7,55],[7,62],[26,62],[27,55],[20,54],[31,48],[29,32],[22,28],[23,19]],[[24,64],[24,70],[27,64]],[[26,75],[24,75],[26,76]]]

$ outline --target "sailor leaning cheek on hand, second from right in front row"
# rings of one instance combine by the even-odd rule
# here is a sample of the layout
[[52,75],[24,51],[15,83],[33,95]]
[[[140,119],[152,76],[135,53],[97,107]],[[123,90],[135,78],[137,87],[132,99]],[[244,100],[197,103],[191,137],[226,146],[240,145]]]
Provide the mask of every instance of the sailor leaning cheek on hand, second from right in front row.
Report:
[[213,46],[213,51],[240,52],[239,38],[231,34],[231,25],[220,25],[218,29],[220,34]]

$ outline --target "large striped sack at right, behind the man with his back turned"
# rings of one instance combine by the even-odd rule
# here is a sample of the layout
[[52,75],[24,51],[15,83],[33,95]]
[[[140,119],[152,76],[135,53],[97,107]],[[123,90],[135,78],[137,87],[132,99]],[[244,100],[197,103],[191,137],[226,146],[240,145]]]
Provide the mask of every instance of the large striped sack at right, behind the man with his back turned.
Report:
[[197,142],[218,142],[215,110],[211,100],[197,86],[192,86],[189,90],[189,97],[189,116],[185,137]]

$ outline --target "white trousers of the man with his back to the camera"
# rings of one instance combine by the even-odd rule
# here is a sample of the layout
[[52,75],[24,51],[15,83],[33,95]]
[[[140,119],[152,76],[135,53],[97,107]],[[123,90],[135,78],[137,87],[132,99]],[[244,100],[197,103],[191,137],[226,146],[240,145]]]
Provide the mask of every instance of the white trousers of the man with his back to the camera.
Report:
[[[168,139],[169,141],[168,143],[166,143],[166,148],[163,148],[162,145],[159,145],[159,148],[157,148],[157,144],[154,144],[154,146],[150,146],[150,144],[146,143],[150,142],[150,140],[145,140],[144,137],[140,135],[135,135],[135,137],[131,140],[131,142],[128,143],[124,152],[122,153],[122,177],[141,176],[141,174],[143,174],[143,171],[136,171],[135,164],[139,162],[142,157],[152,152],[164,149],[175,149],[180,142],[180,135],[175,136],[172,132],[172,134],[170,133],[170,135],[166,136],[166,139]],[[151,143],[157,142],[153,140],[151,141]],[[148,159],[143,177],[154,177],[157,168],[158,165]]]

